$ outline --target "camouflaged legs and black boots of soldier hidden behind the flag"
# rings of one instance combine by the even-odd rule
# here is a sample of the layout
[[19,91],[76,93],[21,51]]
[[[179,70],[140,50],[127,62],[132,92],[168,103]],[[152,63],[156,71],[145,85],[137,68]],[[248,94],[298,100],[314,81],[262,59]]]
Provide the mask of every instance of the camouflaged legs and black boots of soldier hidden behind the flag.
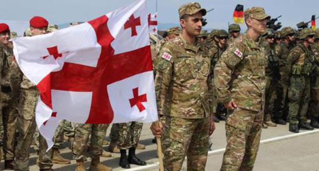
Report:
[[[128,122],[116,124],[119,131],[118,147],[121,151],[120,166],[122,168],[131,168],[129,164],[146,165],[145,161],[140,160],[135,155],[138,146],[142,126],[141,122]],[[126,150],[128,149],[128,157]]]

